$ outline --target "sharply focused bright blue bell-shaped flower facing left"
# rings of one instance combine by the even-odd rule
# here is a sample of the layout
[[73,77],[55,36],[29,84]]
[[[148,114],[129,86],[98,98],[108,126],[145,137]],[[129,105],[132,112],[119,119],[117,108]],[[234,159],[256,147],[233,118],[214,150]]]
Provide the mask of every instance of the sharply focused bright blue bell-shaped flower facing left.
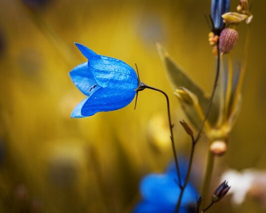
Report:
[[88,47],[75,43],[88,62],[76,66],[70,77],[88,97],[73,110],[72,118],[92,116],[127,106],[134,98],[138,78],[125,62],[98,55]]

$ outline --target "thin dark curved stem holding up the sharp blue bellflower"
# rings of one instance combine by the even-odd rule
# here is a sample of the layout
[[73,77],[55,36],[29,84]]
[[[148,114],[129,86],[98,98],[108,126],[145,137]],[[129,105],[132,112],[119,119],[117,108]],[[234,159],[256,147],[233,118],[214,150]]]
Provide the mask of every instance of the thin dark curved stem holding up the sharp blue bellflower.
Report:
[[172,124],[172,121],[171,121],[171,115],[170,115],[170,104],[169,104],[169,98],[168,98],[168,95],[160,90],[160,89],[157,89],[155,87],[151,87],[151,86],[148,86],[148,85],[145,85],[143,84],[141,86],[143,89],[151,89],[151,90],[155,90],[155,91],[158,91],[160,93],[162,93],[165,98],[166,98],[166,102],[167,102],[167,115],[168,115],[168,121],[169,121],[169,129],[170,129],[170,139],[171,139],[171,144],[172,144],[172,150],[173,150],[173,155],[174,155],[174,161],[175,161],[175,167],[176,167],[176,172],[177,172],[177,178],[178,178],[178,185],[179,187],[181,187],[181,175],[180,175],[180,171],[179,171],[179,164],[178,164],[178,159],[177,159],[177,155],[176,155],[176,150],[175,150],[175,144],[174,144],[174,134],[173,134],[173,124]]

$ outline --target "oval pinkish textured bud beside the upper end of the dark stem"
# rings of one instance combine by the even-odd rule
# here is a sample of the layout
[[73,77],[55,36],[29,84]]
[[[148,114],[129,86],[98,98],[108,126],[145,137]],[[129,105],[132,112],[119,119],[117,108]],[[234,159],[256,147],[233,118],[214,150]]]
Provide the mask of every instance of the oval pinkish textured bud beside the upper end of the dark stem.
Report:
[[230,52],[238,40],[238,32],[235,29],[225,28],[220,35],[220,51],[221,53]]

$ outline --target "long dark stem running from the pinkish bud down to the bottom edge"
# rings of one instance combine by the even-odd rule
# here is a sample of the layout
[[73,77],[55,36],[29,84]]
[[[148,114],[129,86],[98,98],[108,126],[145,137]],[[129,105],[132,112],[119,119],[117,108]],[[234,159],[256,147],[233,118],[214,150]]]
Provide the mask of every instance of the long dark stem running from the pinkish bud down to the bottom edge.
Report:
[[209,105],[208,105],[208,108],[207,108],[205,117],[204,117],[204,119],[203,119],[203,121],[201,123],[199,132],[198,132],[198,134],[197,134],[197,136],[196,136],[195,139],[194,139],[193,136],[191,137],[192,138],[192,147],[191,147],[191,152],[190,152],[188,170],[187,170],[187,174],[186,174],[186,179],[185,179],[184,185],[180,187],[181,192],[180,192],[180,195],[179,195],[179,198],[178,198],[178,202],[176,204],[175,213],[178,213],[178,211],[180,209],[182,196],[183,196],[183,193],[184,193],[185,188],[186,188],[186,186],[188,184],[188,181],[189,181],[189,176],[190,176],[190,172],[191,172],[191,166],[192,166],[192,161],[193,161],[195,146],[196,146],[197,142],[200,139],[201,133],[203,131],[204,124],[207,121],[207,118],[208,118],[208,116],[210,114],[211,107],[212,107],[212,103],[213,103],[213,99],[214,99],[214,95],[215,95],[215,91],[216,91],[216,88],[217,88],[217,85],[218,85],[219,75],[220,75],[220,51],[219,51],[219,40],[218,40],[217,41],[217,66],[216,66],[216,75],[215,75],[214,85],[213,85],[213,89],[212,89],[212,94],[211,94],[211,97],[210,97],[210,101],[209,101]]

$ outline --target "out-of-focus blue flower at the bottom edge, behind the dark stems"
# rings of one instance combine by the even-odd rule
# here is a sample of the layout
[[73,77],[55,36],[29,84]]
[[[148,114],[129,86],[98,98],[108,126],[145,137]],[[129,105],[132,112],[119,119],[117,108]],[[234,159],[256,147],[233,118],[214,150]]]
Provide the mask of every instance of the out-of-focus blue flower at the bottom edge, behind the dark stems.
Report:
[[[180,173],[184,181],[186,165],[181,162]],[[180,189],[177,186],[176,169],[171,163],[165,174],[150,174],[144,177],[140,183],[142,201],[135,207],[133,213],[174,213],[179,198]],[[194,213],[196,189],[189,183],[182,197],[179,213]],[[194,204],[191,208],[191,204]]]

